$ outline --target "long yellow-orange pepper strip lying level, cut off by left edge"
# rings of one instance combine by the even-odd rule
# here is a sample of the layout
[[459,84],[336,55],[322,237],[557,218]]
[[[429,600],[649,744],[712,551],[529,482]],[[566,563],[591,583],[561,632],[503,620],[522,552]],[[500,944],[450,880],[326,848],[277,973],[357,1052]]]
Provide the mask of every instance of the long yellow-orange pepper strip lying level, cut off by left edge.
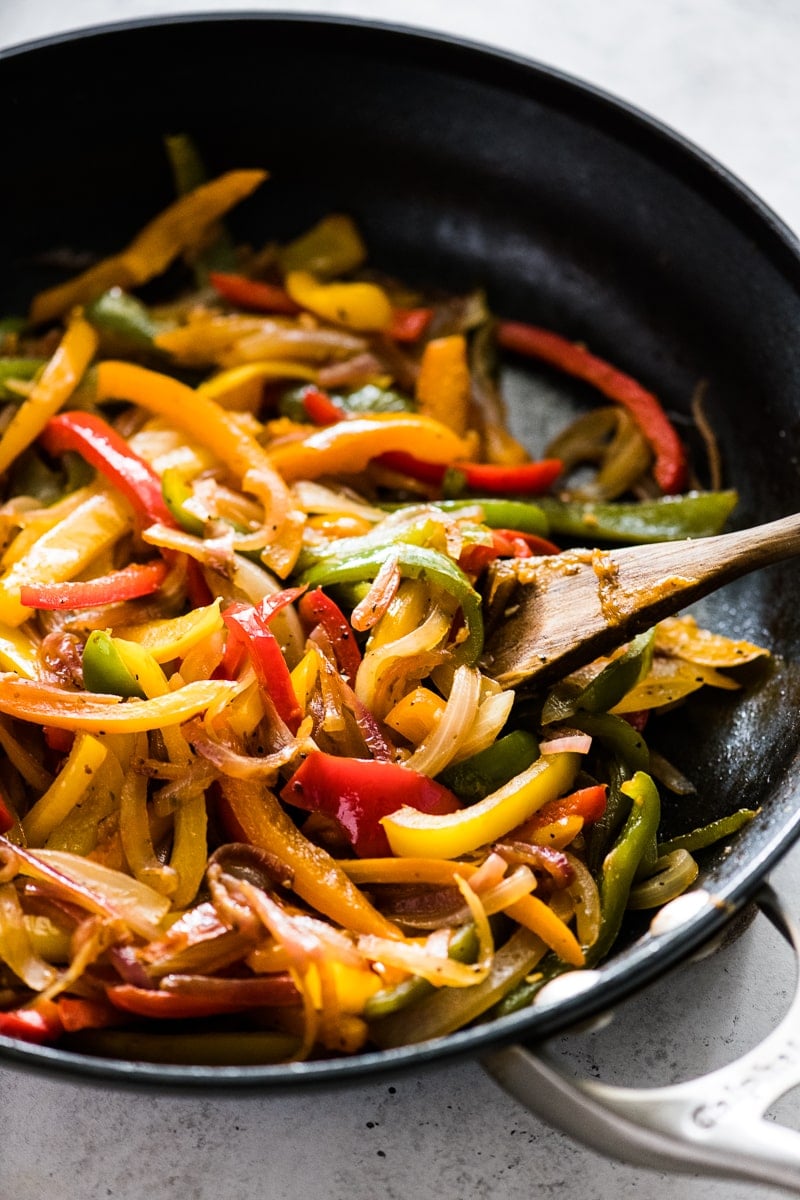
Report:
[[233,700],[237,684],[229,679],[199,679],[154,700],[64,691],[53,684],[0,674],[0,713],[36,725],[59,730],[86,730],[89,733],[140,733],[164,726],[182,725],[212,704]]

